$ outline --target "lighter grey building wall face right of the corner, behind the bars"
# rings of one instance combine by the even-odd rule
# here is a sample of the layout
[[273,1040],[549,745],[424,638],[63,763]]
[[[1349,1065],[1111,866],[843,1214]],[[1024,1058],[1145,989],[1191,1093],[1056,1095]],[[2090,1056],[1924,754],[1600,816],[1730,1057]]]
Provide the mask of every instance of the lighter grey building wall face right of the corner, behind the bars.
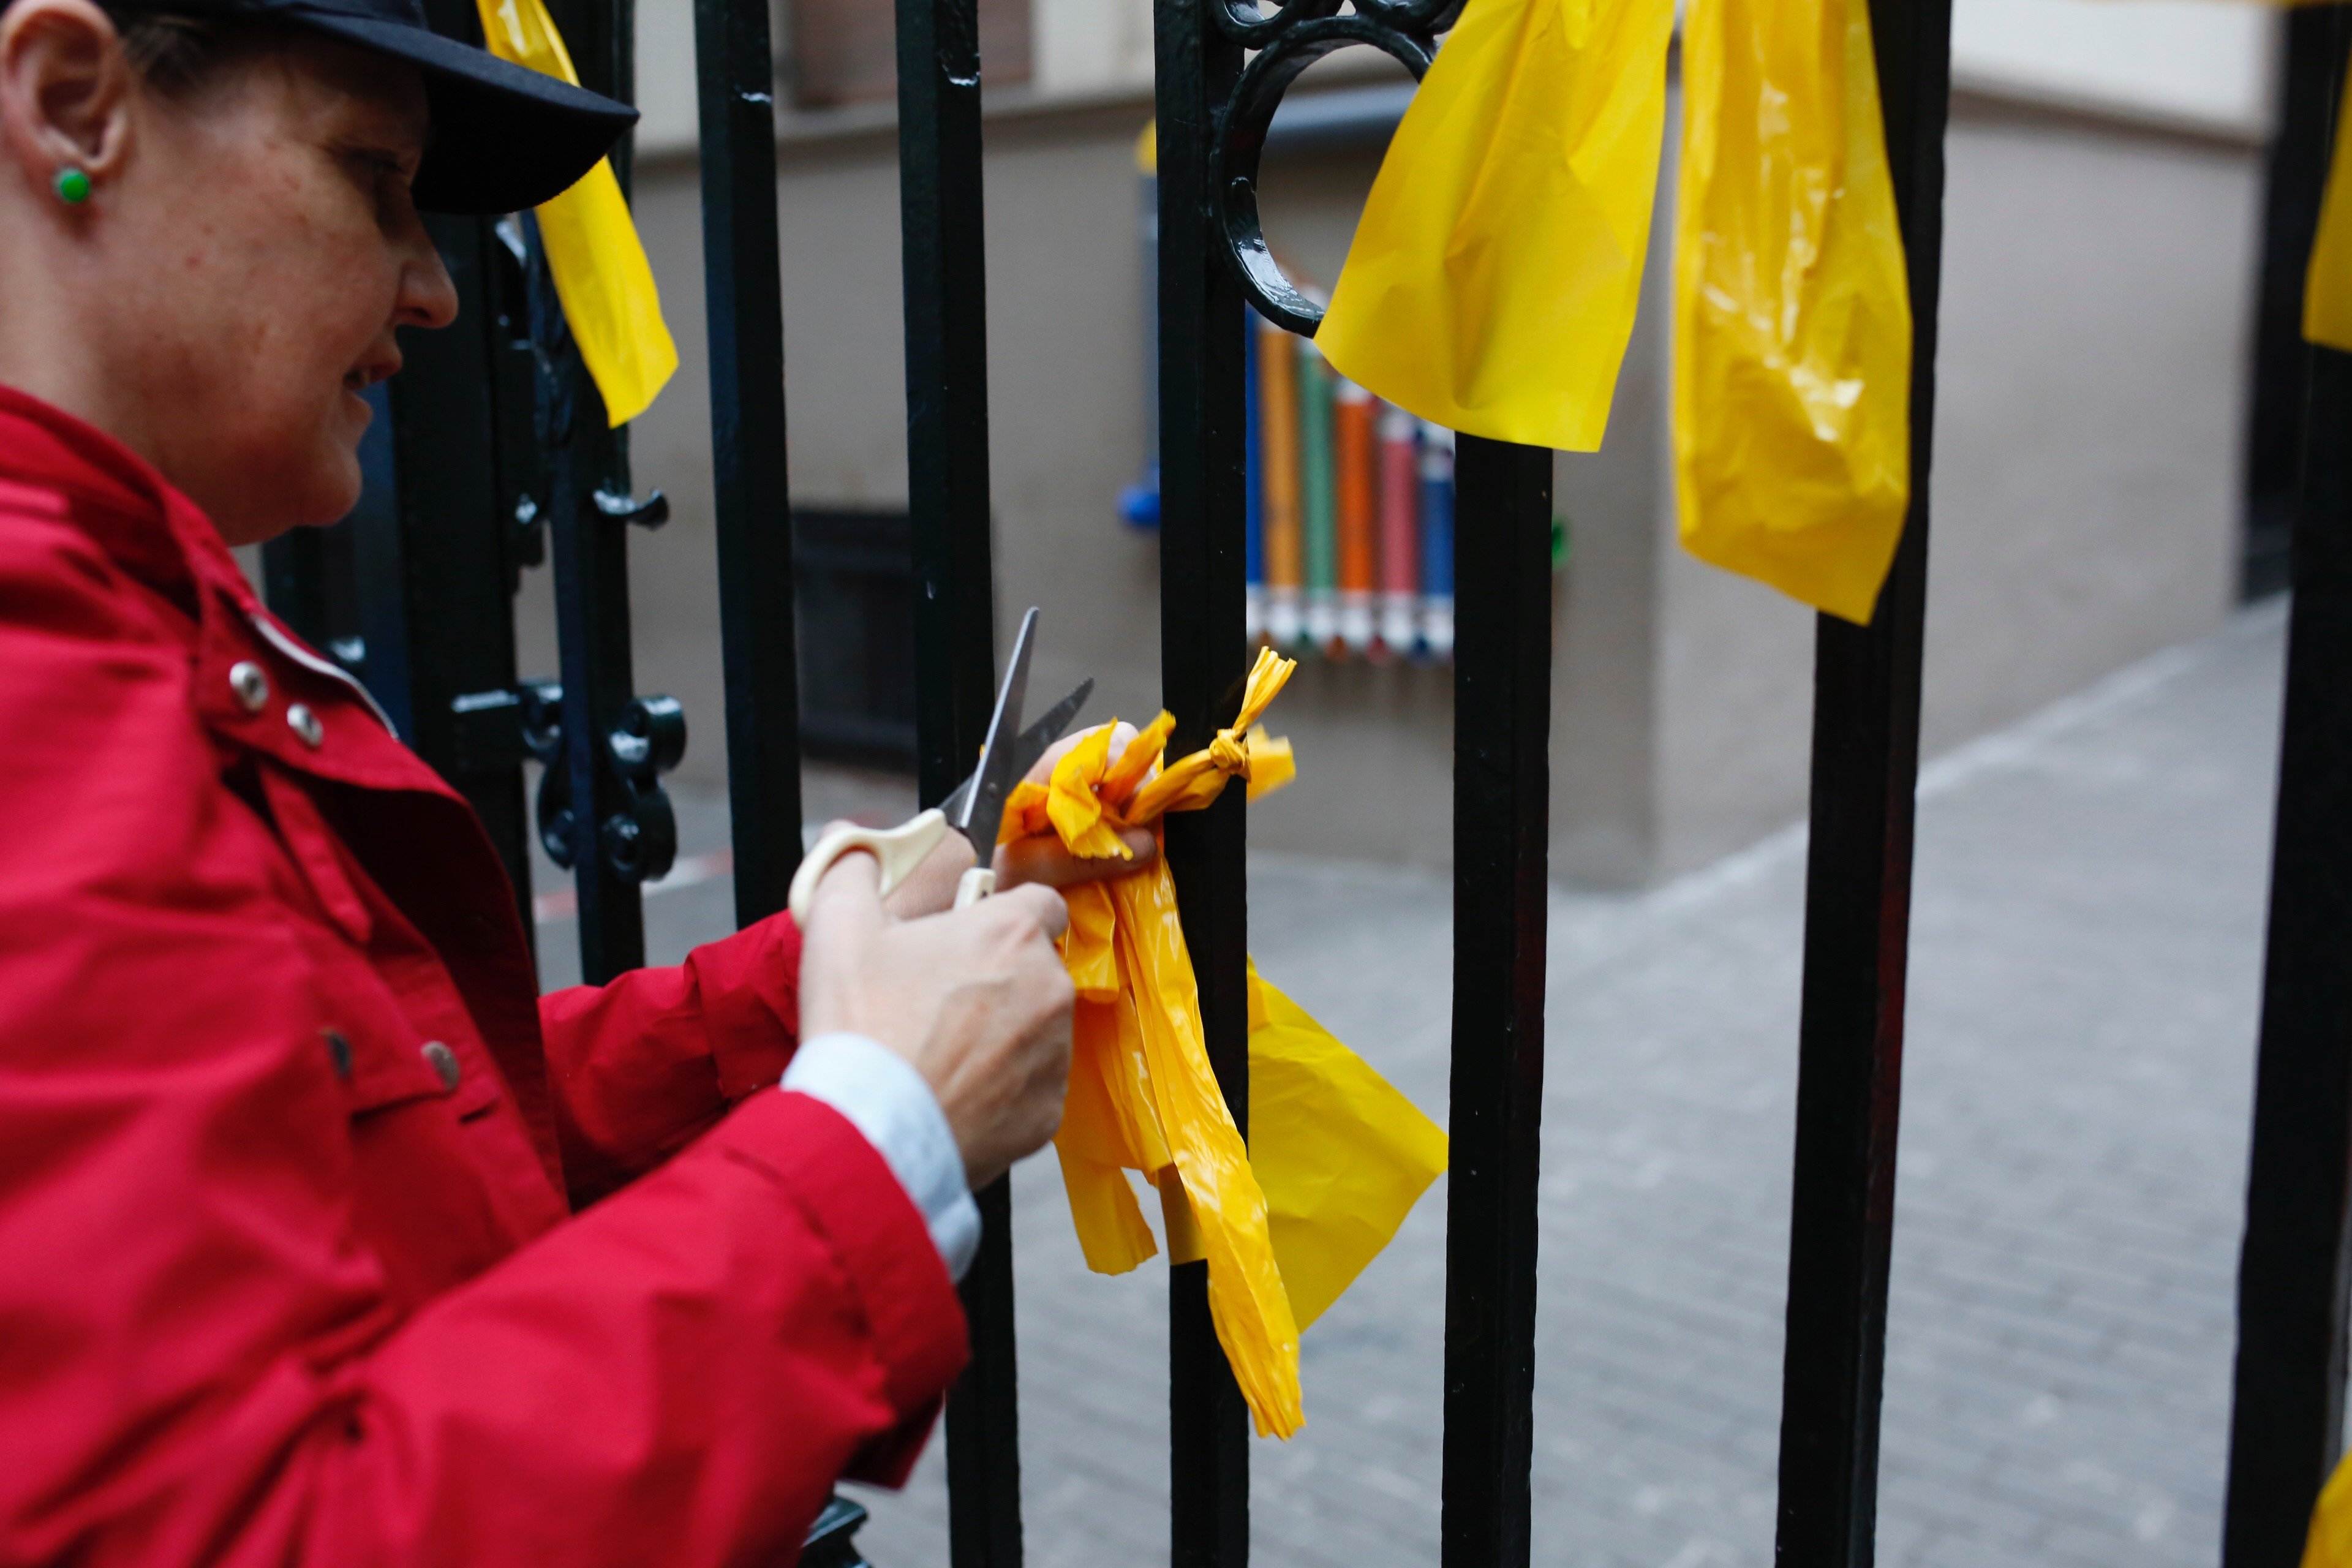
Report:
[[[1987,103],[1955,115],[1929,752],[2225,614],[2258,193],[2244,146]],[[1802,813],[1813,621],[1663,555],[1656,870],[1670,872]]]

